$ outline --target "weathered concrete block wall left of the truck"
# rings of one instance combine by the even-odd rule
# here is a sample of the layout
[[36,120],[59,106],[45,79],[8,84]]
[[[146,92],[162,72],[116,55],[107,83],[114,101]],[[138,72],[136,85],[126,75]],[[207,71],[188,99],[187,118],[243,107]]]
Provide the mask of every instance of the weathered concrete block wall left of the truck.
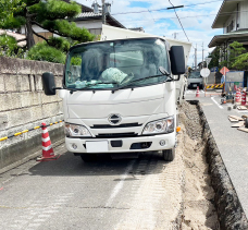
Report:
[[[42,90],[41,74],[48,71],[61,86],[62,64],[0,57],[0,138],[63,120],[59,96]],[[53,141],[63,138],[63,123],[48,129]],[[0,142],[0,170],[41,149],[40,133],[41,129]]]

